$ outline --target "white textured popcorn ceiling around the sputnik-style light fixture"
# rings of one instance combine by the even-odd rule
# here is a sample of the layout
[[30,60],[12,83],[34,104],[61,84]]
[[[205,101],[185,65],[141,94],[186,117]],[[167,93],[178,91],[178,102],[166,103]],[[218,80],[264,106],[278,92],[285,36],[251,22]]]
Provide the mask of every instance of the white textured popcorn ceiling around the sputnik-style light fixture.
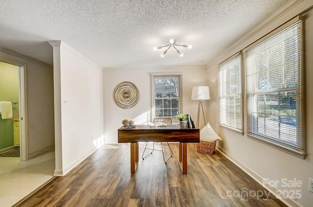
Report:
[[[103,68],[205,65],[287,0],[1,0],[0,47],[52,64],[61,40]],[[169,39],[181,48],[153,51]]]

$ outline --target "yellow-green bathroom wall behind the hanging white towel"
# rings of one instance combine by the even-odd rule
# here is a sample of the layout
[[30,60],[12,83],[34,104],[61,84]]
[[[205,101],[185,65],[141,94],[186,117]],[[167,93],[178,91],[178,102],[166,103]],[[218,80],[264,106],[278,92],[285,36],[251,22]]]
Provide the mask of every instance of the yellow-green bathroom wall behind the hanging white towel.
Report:
[[[19,66],[0,62],[0,102],[19,102]],[[12,104],[12,110],[19,116],[19,104]],[[13,145],[13,119],[0,115],[0,149]]]

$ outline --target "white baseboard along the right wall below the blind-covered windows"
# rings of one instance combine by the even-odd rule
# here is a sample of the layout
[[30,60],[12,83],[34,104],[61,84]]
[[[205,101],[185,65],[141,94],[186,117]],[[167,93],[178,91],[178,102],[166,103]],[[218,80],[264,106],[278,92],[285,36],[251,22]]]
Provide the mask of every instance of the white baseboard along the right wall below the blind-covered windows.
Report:
[[286,204],[289,207],[303,207],[298,202],[296,202],[293,199],[290,198],[283,198],[279,197],[276,192],[279,192],[280,190],[276,187],[271,187],[270,185],[264,185],[263,181],[265,180],[262,178],[259,174],[245,166],[243,163],[238,161],[236,158],[234,158],[232,155],[230,155],[228,152],[226,152],[223,148],[220,146],[216,146],[215,148],[219,152],[221,152],[228,160],[230,160],[232,163],[234,163],[236,166],[240,167],[242,170],[244,170],[251,178],[253,178],[256,182],[264,186],[270,193],[272,193],[275,197],[277,197],[279,200],[281,200],[284,204]]

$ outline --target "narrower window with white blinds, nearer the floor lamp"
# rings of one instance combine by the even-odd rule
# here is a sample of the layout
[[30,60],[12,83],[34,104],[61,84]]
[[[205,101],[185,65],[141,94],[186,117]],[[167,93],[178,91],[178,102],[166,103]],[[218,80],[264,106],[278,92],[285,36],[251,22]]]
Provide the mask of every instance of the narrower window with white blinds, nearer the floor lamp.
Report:
[[242,54],[236,54],[219,67],[220,124],[242,132]]

